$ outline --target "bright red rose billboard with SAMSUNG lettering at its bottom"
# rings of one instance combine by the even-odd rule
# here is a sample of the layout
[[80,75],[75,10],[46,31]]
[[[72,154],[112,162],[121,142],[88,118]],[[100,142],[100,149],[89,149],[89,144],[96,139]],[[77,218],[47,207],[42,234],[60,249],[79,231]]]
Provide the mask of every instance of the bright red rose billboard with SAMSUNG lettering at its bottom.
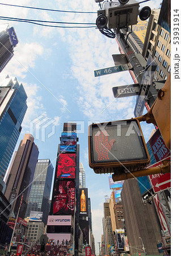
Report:
[[75,154],[58,156],[57,179],[75,179]]

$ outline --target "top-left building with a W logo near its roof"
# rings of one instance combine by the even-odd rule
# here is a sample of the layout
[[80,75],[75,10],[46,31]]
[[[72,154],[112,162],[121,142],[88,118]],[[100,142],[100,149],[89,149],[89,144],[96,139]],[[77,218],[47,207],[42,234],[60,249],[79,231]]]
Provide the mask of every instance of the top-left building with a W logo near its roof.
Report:
[[14,56],[14,47],[18,44],[14,27],[9,24],[0,25],[0,72]]

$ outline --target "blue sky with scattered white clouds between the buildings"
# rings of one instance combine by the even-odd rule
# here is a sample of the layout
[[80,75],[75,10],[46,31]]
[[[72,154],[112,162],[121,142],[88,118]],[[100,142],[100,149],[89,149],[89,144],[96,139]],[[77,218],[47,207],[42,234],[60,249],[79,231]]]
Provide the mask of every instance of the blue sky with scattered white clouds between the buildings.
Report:
[[[3,5],[0,7],[0,16],[57,22],[95,23],[99,9],[98,3],[93,0],[2,0],[1,3],[95,12],[62,13]],[[161,0],[151,0],[140,6],[148,5],[151,9],[157,9],[160,3]],[[19,83],[22,82],[28,96],[28,109],[15,150],[24,134],[31,133],[39,148],[39,159],[49,158],[55,167],[63,124],[70,121],[77,123],[80,162],[86,172],[86,187],[91,199],[92,229],[98,254],[98,242],[103,234],[104,196],[110,196],[111,190],[108,175],[95,174],[89,167],[88,126],[92,122],[134,117],[136,97],[116,99],[112,93],[114,86],[133,84],[132,78],[127,71],[94,77],[95,70],[113,67],[112,55],[120,53],[116,40],[102,35],[95,27],[57,28],[0,20],[0,24],[4,23],[15,28],[19,43],[14,48],[14,57],[1,75],[15,76]],[[141,126],[147,142],[153,125],[141,123]]]

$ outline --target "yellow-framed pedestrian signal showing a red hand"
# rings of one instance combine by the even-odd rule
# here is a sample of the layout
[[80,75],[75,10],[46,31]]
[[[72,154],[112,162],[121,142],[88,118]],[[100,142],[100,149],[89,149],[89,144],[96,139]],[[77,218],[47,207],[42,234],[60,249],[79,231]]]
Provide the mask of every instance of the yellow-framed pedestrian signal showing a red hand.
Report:
[[141,170],[149,162],[148,149],[136,118],[89,126],[89,166],[95,173],[113,172],[110,168]]

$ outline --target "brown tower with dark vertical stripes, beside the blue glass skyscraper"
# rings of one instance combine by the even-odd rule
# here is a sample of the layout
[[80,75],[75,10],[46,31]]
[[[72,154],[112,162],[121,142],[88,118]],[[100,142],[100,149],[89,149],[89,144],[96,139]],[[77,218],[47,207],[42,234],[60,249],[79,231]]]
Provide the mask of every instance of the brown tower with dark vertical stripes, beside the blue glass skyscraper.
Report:
[[20,141],[18,151],[15,153],[14,162],[11,165],[9,177],[6,183],[5,196],[10,201],[11,216],[17,216],[21,193],[23,193],[22,207],[20,208],[19,217],[24,219],[28,199],[30,197],[31,184],[35,174],[39,150],[34,143],[31,134],[25,134]]

